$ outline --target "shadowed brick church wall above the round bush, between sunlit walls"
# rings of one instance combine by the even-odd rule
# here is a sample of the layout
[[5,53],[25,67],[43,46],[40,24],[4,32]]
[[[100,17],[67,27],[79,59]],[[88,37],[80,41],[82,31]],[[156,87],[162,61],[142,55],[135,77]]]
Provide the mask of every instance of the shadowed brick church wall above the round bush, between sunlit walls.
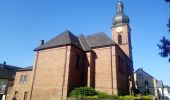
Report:
[[[76,56],[79,56],[79,62],[77,62]],[[77,66],[78,63],[78,66]],[[85,53],[76,48],[71,47],[70,52],[70,67],[69,67],[69,90],[74,87],[86,86],[87,84],[87,66]]]

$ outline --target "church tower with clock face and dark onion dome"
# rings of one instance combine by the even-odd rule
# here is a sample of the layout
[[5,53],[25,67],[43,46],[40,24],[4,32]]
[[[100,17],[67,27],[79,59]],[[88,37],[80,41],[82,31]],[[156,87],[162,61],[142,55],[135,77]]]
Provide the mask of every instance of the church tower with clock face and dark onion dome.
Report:
[[131,29],[129,22],[129,17],[124,13],[123,3],[119,0],[117,3],[117,14],[112,22],[112,39],[132,60]]

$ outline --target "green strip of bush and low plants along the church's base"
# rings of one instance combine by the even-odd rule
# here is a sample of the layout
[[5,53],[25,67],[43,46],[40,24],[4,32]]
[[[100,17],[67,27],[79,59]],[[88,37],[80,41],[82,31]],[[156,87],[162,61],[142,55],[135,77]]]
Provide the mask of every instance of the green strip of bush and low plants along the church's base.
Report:
[[[70,98],[77,98],[77,99],[110,99],[110,100],[136,100],[138,96],[113,96],[109,95],[104,92],[96,91],[93,88],[89,87],[78,87],[71,91]],[[153,96],[141,96],[142,100],[152,100]]]

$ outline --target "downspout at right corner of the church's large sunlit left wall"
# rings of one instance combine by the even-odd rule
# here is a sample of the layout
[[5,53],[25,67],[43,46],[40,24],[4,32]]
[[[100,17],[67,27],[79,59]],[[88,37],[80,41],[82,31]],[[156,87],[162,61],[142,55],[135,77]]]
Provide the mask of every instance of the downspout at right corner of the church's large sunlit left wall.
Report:
[[63,100],[63,92],[64,92],[64,84],[65,84],[65,74],[66,74],[66,64],[67,64],[67,46],[66,46],[66,52],[65,52],[65,62],[64,62],[64,73],[63,73],[63,84],[62,84],[61,100]]

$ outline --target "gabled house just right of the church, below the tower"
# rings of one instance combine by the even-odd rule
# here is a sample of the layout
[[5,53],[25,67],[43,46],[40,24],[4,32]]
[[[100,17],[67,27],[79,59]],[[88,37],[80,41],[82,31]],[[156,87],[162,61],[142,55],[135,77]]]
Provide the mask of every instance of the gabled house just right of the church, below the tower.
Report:
[[139,68],[134,72],[135,88],[143,94],[158,97],[158,81],[150,74]]

